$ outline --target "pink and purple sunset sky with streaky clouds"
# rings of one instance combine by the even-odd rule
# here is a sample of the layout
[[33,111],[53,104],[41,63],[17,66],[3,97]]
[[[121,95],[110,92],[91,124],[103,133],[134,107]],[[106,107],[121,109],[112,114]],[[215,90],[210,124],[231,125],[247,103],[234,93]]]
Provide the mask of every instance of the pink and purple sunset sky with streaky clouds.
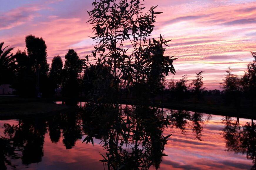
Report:
[[[25,49],[25,36],[46,41],[48,63],[64,57],[69,48],[81,58],[93,49],[91,26],[86,23],[93,0],[0,0],[0,42]],[[158,5],[152,37],[172,39],[166,55],[175,60],[175,79],[204,72],[208,90],[220,89],[230,66],[242,75],[250,51],[256,51],[256,1],[254,0],[145,0],[146,7]],[[170,79],[170,75],[167,79]]]

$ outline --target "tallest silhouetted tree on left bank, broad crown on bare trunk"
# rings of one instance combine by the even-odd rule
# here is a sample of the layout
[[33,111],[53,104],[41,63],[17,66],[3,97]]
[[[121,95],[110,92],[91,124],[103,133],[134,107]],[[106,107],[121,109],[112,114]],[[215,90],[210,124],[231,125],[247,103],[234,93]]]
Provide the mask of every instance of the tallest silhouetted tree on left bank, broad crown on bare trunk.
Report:
[[[29,59],[32,63],[32,68],[36,72],[36,96],[39,97],[40,92],[45,91],[40,89],[45,87],[45,79],[49,71],[49,64],[47,64],[46,44],[42,38],[33,35],[26,36],[26,48]],[[39,81],[39,79],[43,79]],[[46,88],[46,87],[45,87]]]

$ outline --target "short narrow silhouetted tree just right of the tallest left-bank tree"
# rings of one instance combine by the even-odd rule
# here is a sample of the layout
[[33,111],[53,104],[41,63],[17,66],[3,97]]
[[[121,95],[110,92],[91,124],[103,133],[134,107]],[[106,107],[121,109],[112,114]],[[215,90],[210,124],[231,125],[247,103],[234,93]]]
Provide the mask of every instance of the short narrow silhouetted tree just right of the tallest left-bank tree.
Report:
[[63,80],[62,67],[63,67],[63,63],[62,63],[61,57],[55,56],[52,60],[51,69],[49,72],[49,79],[53,87],[52,90],[60,87],[62,84],[62,80]]

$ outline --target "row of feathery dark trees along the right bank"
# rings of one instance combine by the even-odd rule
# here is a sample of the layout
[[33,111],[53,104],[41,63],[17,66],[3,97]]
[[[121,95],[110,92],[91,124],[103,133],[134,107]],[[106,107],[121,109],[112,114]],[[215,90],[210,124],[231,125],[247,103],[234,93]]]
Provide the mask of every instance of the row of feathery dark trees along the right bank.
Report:
[[188,83],[187,75],[183,75],[180,80],[171,79],[166,83],[165,92],[170,98],[184,100],[194,96],[201,99],[203,96],[222,96],[226,103],[240,105],[241,99],[246,98],[253,105],[256,95],[256,53],[251,52],[254,60],[248,63],[247,70],[242,77],[234,74],[231,68],[226,70],[223,83],[220,83],[220,90],[206,90],[203,83],[203,71],[195,74],[195,79]]

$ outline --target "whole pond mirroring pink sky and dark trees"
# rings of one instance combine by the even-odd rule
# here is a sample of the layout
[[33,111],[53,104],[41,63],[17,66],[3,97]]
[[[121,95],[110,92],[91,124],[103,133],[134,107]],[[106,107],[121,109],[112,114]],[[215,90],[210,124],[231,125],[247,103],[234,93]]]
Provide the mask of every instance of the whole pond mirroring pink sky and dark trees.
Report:
[[251,169],[254,120],[119,105],[0,121],[0,169]]

